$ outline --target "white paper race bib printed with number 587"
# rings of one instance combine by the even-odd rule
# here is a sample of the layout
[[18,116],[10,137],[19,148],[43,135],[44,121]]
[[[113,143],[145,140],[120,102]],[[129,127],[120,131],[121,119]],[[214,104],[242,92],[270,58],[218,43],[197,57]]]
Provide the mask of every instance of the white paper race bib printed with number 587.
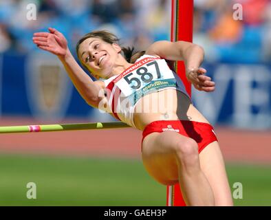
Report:
[[150,89],[175,86],[175,77],[166,61],[160,58],[144,58],[135,63],[114,80],[115,85],[128,97],[147,93]]

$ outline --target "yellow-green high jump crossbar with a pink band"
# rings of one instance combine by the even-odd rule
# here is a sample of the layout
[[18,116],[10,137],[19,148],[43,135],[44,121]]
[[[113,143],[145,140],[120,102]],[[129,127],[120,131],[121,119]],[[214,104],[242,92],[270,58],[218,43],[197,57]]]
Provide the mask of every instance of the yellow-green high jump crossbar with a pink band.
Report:
[[78,124],[41,124],[22,126],[0,126],[1,133],[32,133],[48,131],[78,131],[91,129],[120,129],[130,127],[123,122],[95,122]]

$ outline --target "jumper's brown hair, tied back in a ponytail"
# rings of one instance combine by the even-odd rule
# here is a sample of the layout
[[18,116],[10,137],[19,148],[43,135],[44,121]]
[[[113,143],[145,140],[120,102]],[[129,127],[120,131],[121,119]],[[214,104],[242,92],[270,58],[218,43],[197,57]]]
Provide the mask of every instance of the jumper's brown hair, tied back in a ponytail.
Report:
[[[102,41],[105,41],[110,44],[113,44],[113,43],[119,44],[119,41],[120,41],[120,39],[118,39],[118,37],[115,34],[112,34],[111,32],[108,32],[107,30],[96,30],[93,32],[89,32],[88,34],[85,34],[76,44],[76,54],[79,58],[79,61],[80,61],[80,57],[78,54],[79,46],[81,43],[83,43],[83,41],[85,41],[91,37],[102,39]],[[144,51],[136,52],[134,47],[122,47],[122,52],[123,52],[124,58],[129,63],[135,63],[135,61],[138,58],[140,58],[140,56],[145,54]],[[80,63],[85,67],[85,65],[81,61],[80,61]]]

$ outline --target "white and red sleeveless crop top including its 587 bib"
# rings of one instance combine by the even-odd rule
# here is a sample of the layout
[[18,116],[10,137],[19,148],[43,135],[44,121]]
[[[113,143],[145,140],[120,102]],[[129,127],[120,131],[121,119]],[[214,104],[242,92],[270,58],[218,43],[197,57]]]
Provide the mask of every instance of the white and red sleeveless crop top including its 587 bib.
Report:
[[188,96],[182,80],[166,61],[150,55],[141,56],[122,74],[112,76],[104,83],[107,108],[102,110],[113,113],[118,120],[133,127],[135,106],[144,95],[171,88]]

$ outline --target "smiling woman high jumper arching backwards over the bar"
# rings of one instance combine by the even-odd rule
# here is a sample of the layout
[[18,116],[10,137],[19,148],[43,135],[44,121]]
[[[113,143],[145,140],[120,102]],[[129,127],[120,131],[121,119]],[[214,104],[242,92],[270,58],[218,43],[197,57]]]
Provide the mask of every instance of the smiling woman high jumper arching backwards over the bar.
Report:
[[164,185],[179,183],[187,206],[232,206],[224,159],[208,120],[197,111],[174,61],[184,61],[195,89],[213,91],[201,67],[204,50],[185,41],[158,41],[133,53],[107,31],[85,34],[76,46],[78,65],[67,40],[54,28],[34,33],[34,43],[58,56],[69,78],[92,107],[142,131],[142,161]]

